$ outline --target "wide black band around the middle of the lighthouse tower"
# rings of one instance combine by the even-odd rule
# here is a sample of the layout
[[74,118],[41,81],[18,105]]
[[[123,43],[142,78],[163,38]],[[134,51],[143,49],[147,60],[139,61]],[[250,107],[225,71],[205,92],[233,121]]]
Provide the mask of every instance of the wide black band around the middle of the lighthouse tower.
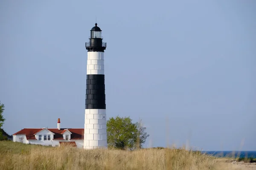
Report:
[[86,84],[85,109],[106,109],[105,75],[89,74]]

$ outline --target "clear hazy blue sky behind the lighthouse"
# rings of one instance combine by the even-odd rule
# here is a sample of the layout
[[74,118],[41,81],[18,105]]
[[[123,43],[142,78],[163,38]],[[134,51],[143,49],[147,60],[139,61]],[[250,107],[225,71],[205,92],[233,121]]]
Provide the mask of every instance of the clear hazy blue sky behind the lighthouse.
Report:
[[90,29],[102,29],[107,119],[144,147],[256,150],[256,1],[0,1],[3,129],[83,128]]

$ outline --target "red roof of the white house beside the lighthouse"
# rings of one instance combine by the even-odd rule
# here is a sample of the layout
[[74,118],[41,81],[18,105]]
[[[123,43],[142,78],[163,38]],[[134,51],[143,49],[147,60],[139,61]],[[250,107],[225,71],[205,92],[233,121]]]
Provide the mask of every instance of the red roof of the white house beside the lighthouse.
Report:
[[[63,139],[63,135],[62,133],[64,133],[66,131],[66,129],[62,128],[60,130],[58,130],[58,128],[53,128],[53,129],[48,129],[47,130],[51,131],[52,133],[55,133],[55,135],[53,135],[53,139],[54,140],[64,140]],[[26,135],[26,139],[27,140],[36,140],[35,139],[35,134],[40,132],[41,130],[44,130],[44,128],[25,128],[22,129],[20,131],[18,131],[17,133],[14,133],[13,135],[21,135],[24,134]],[[70,139],[71,140],[79,140],[79,139],[84,139],[84,129],[81,128],[74,128],[74,129],[67,129],[69,130],[72,134]]]

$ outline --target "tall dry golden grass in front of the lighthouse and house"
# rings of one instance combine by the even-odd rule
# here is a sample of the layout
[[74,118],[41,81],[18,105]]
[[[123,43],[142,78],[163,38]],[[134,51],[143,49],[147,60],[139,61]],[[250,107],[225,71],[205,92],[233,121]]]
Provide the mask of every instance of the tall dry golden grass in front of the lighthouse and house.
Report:
[[0,142],[0,170],[223,170],[212,156],[184,149],[83,150]]

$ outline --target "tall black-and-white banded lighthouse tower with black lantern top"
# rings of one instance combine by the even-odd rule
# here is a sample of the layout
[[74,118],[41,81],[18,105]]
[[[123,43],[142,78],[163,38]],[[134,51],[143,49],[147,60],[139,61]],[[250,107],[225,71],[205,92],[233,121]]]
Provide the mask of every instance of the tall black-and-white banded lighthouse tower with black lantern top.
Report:
[[87,49],[86,100],[84,122],[84,149],[107,147],[104,50],[102,30],[90,30]]

